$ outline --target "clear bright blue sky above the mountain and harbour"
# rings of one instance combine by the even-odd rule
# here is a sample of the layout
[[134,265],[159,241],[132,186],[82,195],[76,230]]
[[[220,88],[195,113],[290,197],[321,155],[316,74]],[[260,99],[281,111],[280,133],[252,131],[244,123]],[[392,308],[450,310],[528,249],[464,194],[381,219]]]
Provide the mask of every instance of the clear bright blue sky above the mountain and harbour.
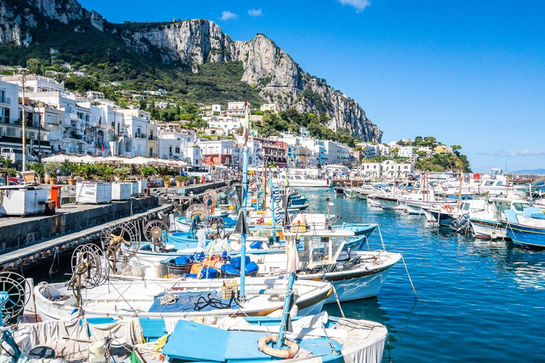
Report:
[[108,21],[264,33],[356,99],[383,141],[460,144],[475,172],[545,167],[545,1],[82,0]]

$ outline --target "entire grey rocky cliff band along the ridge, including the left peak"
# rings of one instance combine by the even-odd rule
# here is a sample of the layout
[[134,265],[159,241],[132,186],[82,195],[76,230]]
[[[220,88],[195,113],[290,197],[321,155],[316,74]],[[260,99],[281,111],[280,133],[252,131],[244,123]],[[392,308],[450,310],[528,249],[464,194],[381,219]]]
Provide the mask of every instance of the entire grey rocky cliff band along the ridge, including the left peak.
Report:
[[141,55],[160,55],[165,64],[185,63],[193,72],[199,72],[199,65],[207,62],[240,61],[244,69],[241,80],[280,109],[326,113],[334,130],[348,128],[370,141],[382,137],[380,128],[368,120],[355,100],[304,72],[263,34],[234,41],[216,23],[202,19],[123,26],[107,23],[76,0],[0,0],[0,43],[28,46],[33,31],[47,28],[51,20],[74,26],[75,31],[79,23],[87,22]]

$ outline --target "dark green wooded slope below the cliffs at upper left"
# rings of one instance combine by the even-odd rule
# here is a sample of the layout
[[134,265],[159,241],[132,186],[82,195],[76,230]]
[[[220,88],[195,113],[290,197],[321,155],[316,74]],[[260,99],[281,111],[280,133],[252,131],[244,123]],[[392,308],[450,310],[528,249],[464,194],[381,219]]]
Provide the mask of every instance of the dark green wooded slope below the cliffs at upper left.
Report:
[[[38,20],[45,21],[39,13],[36,16]],[[130,100],[128,96],[120,94],[123,90],[141,92],[165,89],[172,101],[225,104],[246,99],[252,104],[264,102],[258,89],[241,82],[241,62],[205,63],[194,73],[181,62],[165,65],[160,58],[161,52],[151,45],[150,54],[138,54],[128,48],[119,35],[97,30],[87,22],[66,25],[48,19],[47,23],[48,28],[24,29],[31,33],[33,39],[28,47],[0,45],[0,64],[28,66],[28,60],[32,59],[29,70],[41,74],[48,71],[66,72],[62,65],[67,63],[72,70],[79,70],[94,79],[72,76],[83,79],[67,82],[68,88],[103,91],[115,101]],[[121,29],[129,25],[111,26]],[[84,82],[87,85],[82,85]],[[111,82],[120,82],[121,87],[111,86]],[[101,86],[97,87],[97,84]]]

